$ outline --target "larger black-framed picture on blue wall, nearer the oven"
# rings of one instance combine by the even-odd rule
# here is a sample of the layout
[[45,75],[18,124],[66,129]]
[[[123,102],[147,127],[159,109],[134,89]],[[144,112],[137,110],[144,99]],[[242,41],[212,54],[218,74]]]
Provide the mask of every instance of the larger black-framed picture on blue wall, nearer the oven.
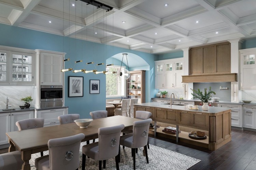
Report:
[[69,95],[68,97],[84,96],[84,77],[69,76]]

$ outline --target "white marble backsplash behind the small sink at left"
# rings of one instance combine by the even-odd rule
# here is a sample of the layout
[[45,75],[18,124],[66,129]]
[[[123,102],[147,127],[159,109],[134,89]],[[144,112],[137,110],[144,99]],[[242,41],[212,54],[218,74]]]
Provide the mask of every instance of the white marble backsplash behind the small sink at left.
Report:
[[[12,106],[11,108],[18,108],[25,104],[20,100],[21,98],[33,96],[32,86],[1,86],[0,88],[0,109],[6,108],[7,97],[9,97],[9,105]],[[32,102],[30,102],[31,106]]]

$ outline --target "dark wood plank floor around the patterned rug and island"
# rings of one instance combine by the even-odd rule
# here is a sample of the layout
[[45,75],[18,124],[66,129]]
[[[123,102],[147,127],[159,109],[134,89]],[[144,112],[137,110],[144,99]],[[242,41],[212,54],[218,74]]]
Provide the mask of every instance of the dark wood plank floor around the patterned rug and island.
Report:
[[[256,132],[232,129],[231,135],[232,140],[216,151],[182,142],[177,145],[175,140],[167,138],[149,137],[148,141],[151,145],[201,160],[189,170],[255,170]],[[8,148],[0,149],[0,154],[6,152]]]

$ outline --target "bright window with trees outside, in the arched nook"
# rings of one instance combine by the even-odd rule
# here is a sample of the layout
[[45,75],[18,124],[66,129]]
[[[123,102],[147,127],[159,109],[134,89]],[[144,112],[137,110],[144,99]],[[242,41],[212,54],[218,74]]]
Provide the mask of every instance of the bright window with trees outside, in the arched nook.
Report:
[[108,66],[106,71],[115,74],[106,74],[106,96],[124,96],[125,95],[125,80],[120,79],[120,66]]

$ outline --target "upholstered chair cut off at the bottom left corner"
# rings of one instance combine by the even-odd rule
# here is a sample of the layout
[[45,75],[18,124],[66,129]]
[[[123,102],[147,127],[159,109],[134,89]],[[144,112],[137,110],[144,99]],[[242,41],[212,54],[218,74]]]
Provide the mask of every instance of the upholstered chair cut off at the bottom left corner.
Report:
[[23,160],[19,151],[0,154],[0,170],[22,169]]

